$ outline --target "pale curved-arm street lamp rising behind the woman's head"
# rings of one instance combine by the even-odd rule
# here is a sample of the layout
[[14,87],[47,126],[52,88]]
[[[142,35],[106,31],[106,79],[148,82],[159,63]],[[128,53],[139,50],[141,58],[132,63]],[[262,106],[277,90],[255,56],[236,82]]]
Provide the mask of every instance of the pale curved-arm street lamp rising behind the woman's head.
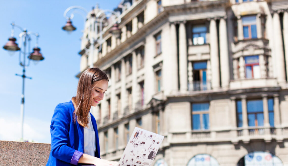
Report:
[[[71,19],[73,19],[74,14],[73,12],[71,13],[70,17],[67,16],[67,13],[70,10],[74,9],[80,9],[82,11],[84,11],[86,13],[86,15],[88,15],[88,12],[86,11],[85,8],[81,7],[81,6],[71,6],[68,7],[65,11],[64,11],[64,17],[67,19],[67,23],[65,26],[62,27],[63,30],[67,31],[68,33],[76,30],[76,27],[74,27],[72,25]],[[96,5],[96,9],[98,9],[98,5]],[[118,18],[118,22],[114,22],[113,27],[111,28],[111,30],[109,31],[109,33],[112,33],[113,35],[115,35],[116,38],[119,37],[121,30],[118,27],[118,24],[121,22],[121,19],[119,18],[119,14],[117,14],[115,11],[112,10],[100,10],[98,11],[96,14],[94,13],[94,7],[92,7],[92,12],[90,14],[90,17],[88,17],[88,19],[90,19],[90,24],[91,24],[91,29],[90,29],[90,37],[89,37],[89,42],[90,42],[90,51],[89,51],[89,67],[93,67],[93,55],[94,55],[94,43],[98,42],[99,43],[99,50],[102,49],[102,44],[103,44],[103,33],[102,33],[102,25],[103,25],[103,20],[105,18],[107,18],[107,15],[103,15],[104,13],[110,13],[111,15],[115,15],[116,18]],[[86,20],[86,18],[84,17],[84,20]],[[96,23],[96,28],[94,28]],[[99,28],[99,32],[98,32],[98,23],[100,24],[100,28]],[[85,24],[84,24],[85,27]],[[96,30],[95,30],[96,29]],[[96,38],[94,37],[94,34],[96,36]],[[99,37],[98,37],[99,34]]]

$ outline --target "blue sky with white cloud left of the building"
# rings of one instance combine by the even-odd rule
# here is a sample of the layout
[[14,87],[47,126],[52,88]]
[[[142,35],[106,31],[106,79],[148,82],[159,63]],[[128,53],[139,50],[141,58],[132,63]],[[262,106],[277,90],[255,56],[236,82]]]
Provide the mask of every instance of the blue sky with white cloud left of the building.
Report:
[[[76,94],[80,64],[80,37],[83,17],[75,14],[72,19],[77,30],[71,34],[64,32],[65,9],[73,5],[87,11],[96,3],[101,9],[113,9],[121,0],[10,0],[0,5],[0,140],[18,140],[20,134],[20,101],[22,67],[19,52],[10,56],[3,46],[11,35],[12,21],[28,31],[38,32],[39,47],[44,60],[37,65],[30,63],[26,69],[24,139],[50,143],[50,122],[58,103],[66,102]],[[15,28],[14,36],[19,44],[20,30]],[[32,36],[31,49],[35,45]],[[31,51],[30,51],[31,52]]]

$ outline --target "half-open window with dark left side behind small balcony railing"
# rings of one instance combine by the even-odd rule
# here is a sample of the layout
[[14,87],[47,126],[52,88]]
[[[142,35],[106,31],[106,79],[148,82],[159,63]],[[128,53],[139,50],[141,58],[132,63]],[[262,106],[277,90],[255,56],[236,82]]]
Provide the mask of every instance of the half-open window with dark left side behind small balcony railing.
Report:
[[207,90],[206,79],[207,62],[193,63],[193,90]]

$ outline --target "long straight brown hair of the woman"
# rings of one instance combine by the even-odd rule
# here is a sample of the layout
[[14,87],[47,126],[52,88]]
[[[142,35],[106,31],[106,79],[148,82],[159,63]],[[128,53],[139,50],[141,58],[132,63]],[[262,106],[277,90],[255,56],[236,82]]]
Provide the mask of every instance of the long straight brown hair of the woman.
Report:
[[107,75],[98,67],[91,67],[85,70],[79,78],[77,94],[72,97],[75,108],[73,121],[85,127],[88,125],[88,114],[92,105],[92,84],[96,81],[108,80]]

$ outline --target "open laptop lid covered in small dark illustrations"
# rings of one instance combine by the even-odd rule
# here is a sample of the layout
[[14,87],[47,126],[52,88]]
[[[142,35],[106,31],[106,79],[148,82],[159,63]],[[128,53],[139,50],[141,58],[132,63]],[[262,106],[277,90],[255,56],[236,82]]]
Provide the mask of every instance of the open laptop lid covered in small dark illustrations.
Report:
[[149,166],[164,136],[135,127],[118,166]]

